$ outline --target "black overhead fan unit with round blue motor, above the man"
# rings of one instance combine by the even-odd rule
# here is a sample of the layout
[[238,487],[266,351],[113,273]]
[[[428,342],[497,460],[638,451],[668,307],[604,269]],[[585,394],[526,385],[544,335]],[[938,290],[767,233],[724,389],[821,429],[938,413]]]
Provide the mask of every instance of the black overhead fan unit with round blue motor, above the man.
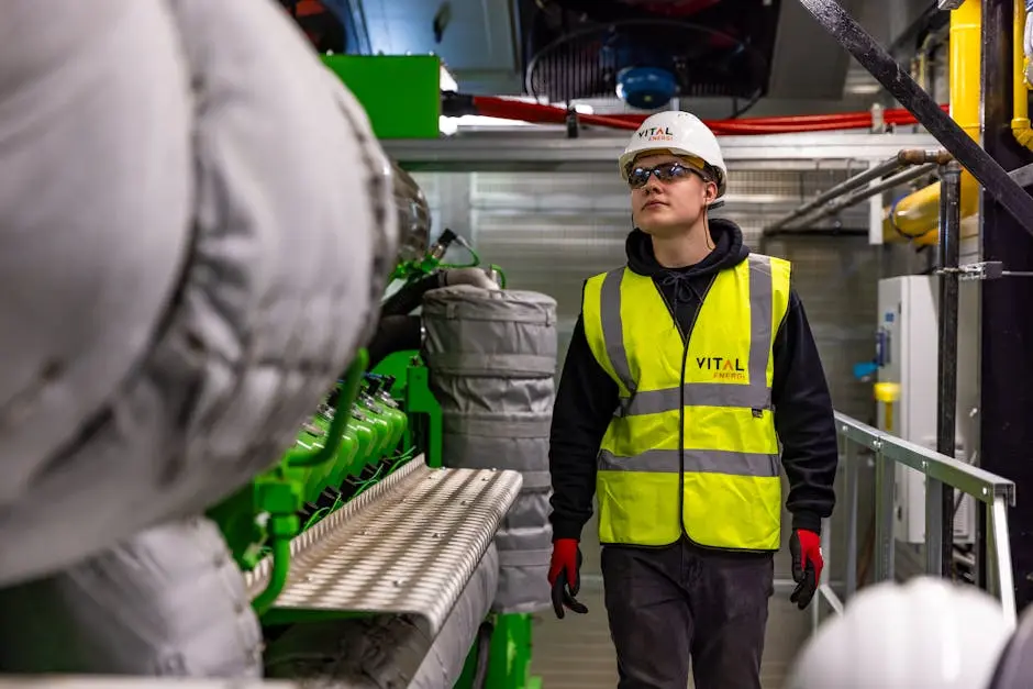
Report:
[[[552,102],[617,96],[655,110],[767,90],[776,0],[520,0],[525,90]],[[733,114],[737,114],[733,112]]]

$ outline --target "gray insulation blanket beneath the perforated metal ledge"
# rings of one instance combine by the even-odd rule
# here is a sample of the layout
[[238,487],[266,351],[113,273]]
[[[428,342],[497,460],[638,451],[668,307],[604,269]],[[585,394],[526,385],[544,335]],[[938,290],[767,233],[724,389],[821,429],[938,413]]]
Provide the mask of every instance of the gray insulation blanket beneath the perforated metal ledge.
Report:
[[307,622],[269,644],[270,678],[323,678],[341,689],[447,689],[491,608],[499,557],[489,545],[436,638],[409,615]]

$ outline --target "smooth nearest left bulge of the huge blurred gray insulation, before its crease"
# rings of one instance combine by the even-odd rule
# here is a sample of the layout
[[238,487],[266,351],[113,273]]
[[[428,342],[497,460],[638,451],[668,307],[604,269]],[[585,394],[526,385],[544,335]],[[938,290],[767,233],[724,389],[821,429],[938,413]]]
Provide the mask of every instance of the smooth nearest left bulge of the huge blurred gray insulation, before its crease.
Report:
[[163,2],[3,3],[0,505],[154,344],[191,242],[189,78]]

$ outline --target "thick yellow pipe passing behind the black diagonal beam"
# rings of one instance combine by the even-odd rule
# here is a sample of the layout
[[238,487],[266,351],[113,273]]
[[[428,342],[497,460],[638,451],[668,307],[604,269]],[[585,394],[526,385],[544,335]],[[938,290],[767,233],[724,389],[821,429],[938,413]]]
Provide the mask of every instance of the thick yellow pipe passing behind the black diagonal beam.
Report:
[[[1017,0],[1017,3],[1021,2],[1022,0]],[[982,59],[981,0],[965,0],[962,7],[951,12],[948,47],[951,116],[969,136],[978,141]],[[979,210],[979,185],[968,171],[962,173],[960,207],[962,218],[973,215]],[[935,182],[900,199],[888,209],[882,223],[882,241],[899,242],[910,237],[917,243],[935,244],[938,223],[940,182]],[[901,233],[907,236],[901,236]]]

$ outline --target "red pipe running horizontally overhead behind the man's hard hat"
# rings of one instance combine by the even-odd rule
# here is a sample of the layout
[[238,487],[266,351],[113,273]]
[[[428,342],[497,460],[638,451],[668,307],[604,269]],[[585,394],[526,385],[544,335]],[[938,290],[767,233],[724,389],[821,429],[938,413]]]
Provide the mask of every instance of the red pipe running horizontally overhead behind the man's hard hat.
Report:
[[[492,96],[475,96],[473,100],[474,107],[477,109],[478,113],[488,118],[522,120],[537,124],[563,124],[567,120],[567,111],[556,105],[525,103]],[[947,105],[941,107],[944,110],[947,109]],[[577,114],[578,122],[581,124],[608,126],[627,131],[638,129],[638,125],[642,124],[647,116],[648,115],[642,114]],[[884,111],[882,120],[887,124],[896,125],[918,123],[914,115],[902,108]],[[741,118],[737,120],[709,120],[706,124],[718,135],[752,135],[870,129],[873,121],[870,112],[860,111],[817,115],[778,115]]]

